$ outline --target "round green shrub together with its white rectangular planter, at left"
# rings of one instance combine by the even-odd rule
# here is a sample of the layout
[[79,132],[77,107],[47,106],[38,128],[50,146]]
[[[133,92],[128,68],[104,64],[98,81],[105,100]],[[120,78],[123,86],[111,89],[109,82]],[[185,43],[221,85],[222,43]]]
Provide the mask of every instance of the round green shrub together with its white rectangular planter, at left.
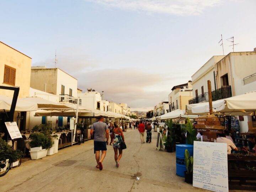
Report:
[[30,156],[32,160],[41,159],[47,155],[47,149],[52,146],[52,142],[47,135],[43,133],[33,133],[30,135],[32,141],[30,142],[32,148],[41,148],[39,150],[30,150]]

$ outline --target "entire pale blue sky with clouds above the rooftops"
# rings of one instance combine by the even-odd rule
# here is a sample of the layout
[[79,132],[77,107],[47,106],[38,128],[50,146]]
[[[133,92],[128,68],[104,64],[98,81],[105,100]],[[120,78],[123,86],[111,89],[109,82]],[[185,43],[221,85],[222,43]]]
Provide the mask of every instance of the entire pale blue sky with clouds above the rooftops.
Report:
[[213,55],[256,47],[255,0],[2,0],[0,41],[149,111]]

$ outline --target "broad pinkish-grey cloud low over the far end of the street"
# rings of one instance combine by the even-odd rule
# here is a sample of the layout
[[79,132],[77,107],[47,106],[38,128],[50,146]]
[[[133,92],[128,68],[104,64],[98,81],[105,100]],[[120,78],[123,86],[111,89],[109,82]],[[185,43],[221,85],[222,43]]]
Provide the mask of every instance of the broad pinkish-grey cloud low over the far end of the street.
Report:
[[138,69],[102,69],[80,73],[75,77],[80,89],[104,91],[104,99],[127,103],[132,109],[140,108],[143,111],[152,109],[161,100],[167,99],[169,94],[168,91],[146,88],[165,82],[167,78],[164,75],[149,74]]

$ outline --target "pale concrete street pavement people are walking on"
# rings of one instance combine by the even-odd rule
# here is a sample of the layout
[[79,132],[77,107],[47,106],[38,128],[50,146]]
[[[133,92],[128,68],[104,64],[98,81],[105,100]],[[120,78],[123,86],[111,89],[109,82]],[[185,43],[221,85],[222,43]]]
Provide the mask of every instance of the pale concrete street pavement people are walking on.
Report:
[[127,149],[123,150],[119,168],[109,145],[103,170],[97,169],[93,140],[89,140],[22,163],[0,177],[0,191],[205,191],[176,175],[175,153],[156,150],[156,132],[151,143],[141,144],[138,130],[127,130],[124,137]]

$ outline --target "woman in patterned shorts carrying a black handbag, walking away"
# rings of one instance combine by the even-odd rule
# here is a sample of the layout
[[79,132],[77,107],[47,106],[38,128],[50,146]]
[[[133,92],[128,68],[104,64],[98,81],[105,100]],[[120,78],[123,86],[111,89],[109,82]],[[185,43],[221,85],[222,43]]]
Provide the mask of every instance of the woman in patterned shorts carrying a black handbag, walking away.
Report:
[[[118,123],[114,122],[114,129],[112,131],[113,149],[114,149],[114,159],[116,161],[116,167],[119,167],[119,160],[122,157],[123,150],[121,149],[121,142],[124,142],[123,131],[119,128]],[[118,155],[119,151],[119,155]],[[118,157],[117,157],[118,156]]]

